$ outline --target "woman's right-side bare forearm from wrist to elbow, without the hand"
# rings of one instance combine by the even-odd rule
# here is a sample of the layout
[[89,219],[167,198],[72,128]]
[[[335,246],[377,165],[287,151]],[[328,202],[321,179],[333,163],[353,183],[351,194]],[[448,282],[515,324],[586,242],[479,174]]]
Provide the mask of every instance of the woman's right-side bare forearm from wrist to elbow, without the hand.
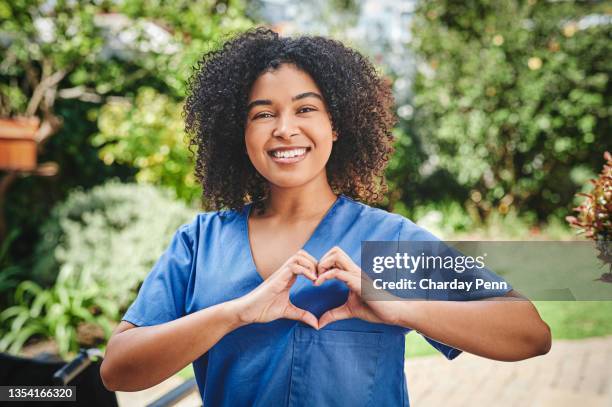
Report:
[[516,361],[548,353],[551,333],[515,291],[478,301],[398,301],[398,325],[479,356]]

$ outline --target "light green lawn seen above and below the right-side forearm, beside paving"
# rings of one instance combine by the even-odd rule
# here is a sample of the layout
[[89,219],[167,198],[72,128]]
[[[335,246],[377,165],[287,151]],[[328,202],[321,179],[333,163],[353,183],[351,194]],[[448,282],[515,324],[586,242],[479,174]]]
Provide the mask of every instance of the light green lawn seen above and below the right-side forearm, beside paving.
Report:
[[[584,339],[612,334],[612,301],[534,301],[555,339]],[[439,354],[421,335],[406,335],[406,357]]]

